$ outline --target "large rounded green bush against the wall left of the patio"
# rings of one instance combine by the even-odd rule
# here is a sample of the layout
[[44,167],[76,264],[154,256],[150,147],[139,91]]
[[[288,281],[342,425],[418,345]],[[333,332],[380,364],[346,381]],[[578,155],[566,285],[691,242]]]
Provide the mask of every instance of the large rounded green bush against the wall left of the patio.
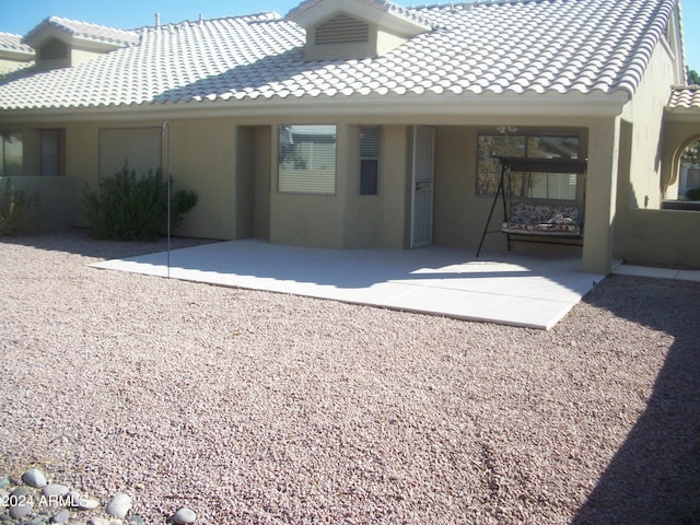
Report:
[[[171,188],[172,189],[172,188]],[[137,177],[125,165],[112,177],[105,177],[96,190],[85,186],[83,200],[92,234],[117,241],[155,241],[167,232],[167,182],[152,171]],[[197,205],[191,190],[171,192],[171,232],[183,214]]]

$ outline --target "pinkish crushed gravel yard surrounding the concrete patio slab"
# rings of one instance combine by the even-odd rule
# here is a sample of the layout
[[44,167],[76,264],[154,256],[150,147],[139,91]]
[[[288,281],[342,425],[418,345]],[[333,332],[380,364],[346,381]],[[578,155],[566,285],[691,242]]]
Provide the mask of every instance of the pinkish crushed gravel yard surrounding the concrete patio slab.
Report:
[[700,523],[700,284],[539,331],[86,267],[163,248],[0,243],[0,475],[153,524]]

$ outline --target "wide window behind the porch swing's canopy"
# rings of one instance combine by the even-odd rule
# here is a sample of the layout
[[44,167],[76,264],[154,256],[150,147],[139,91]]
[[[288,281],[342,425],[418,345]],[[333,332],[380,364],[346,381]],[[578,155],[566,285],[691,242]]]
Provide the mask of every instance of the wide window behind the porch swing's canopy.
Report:
[[[578,159],[579,138],[541,135],[479,135],[477,195],[493,195],[499,186],[501,164],[493,156]],[[576,200],[578,177],[573,174],[513,173],[514,196],[536,199]]]

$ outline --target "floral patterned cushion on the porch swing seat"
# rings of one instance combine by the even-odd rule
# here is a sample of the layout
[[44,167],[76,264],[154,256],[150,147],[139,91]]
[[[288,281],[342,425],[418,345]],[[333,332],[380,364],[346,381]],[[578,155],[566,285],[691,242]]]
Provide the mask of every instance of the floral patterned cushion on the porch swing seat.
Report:
[[580,214],[576,207],[514,202],[511,217],[501,230],[505,233],[580,236]]

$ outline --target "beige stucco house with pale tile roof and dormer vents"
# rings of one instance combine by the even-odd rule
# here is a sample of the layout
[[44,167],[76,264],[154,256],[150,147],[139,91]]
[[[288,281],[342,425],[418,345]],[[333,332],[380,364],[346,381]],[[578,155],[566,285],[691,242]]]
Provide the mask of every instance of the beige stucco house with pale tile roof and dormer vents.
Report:
[[52,223],[86,225],[83,187],[128,162],[199,194],[179,234],[476,249],[491,154],[587,159],[585,176],[520,174],[516,196],[579,206],[582,269],[600,273],[663,262],[640,233],[654,219],[630,213],[665,212],[700,138],[677,0],[307,0],[133,31],[52,16],[23,43],[34,66],[0,81],[0,176],[45,188]]

